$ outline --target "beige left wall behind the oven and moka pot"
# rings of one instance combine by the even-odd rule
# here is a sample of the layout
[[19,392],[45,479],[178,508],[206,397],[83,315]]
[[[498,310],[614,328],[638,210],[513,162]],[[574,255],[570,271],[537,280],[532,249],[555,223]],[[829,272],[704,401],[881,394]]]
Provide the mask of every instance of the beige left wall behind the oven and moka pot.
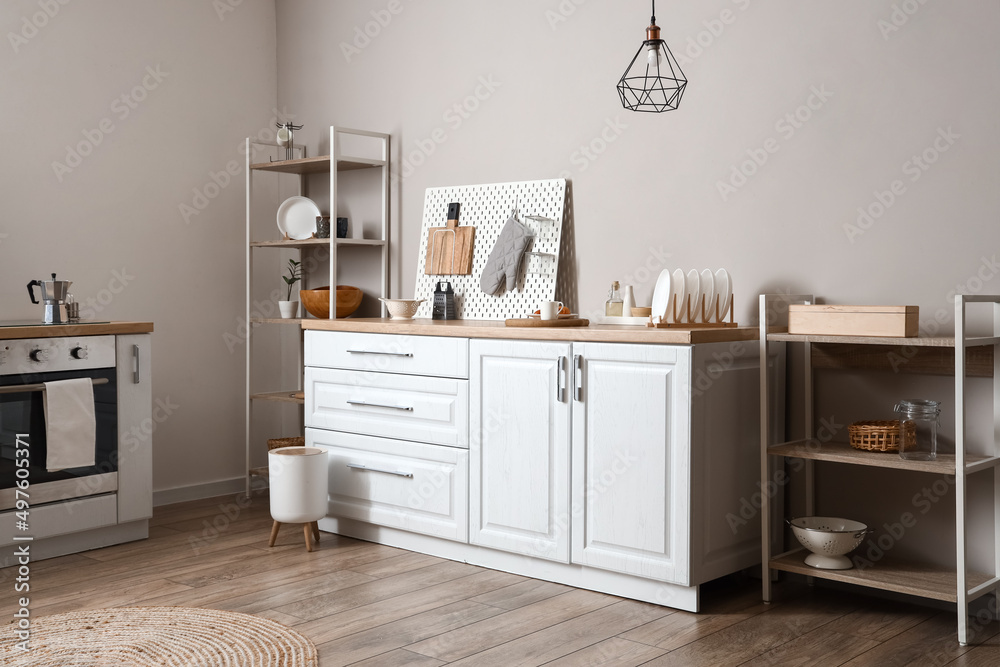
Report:
[[238,146],[273,123],[274,25],[266,0],[0,4],[0,319],[40,318],[24,285],[55,271],[85,314],[155,323],[158,491],[243,474],[243,347],[223,336],[243,313]]

